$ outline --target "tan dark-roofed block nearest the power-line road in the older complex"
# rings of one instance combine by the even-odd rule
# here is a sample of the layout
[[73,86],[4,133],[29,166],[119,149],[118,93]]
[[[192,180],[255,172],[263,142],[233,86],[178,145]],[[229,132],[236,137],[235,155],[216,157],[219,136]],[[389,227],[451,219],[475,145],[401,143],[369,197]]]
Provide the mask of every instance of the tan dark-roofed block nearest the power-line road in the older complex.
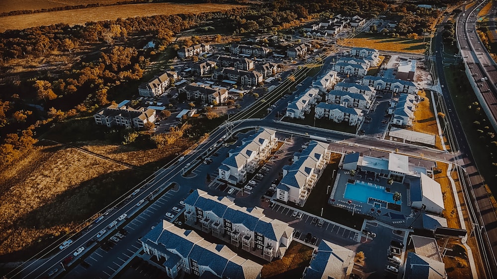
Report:
[[209,84],[190,83],[178,89],[179,93],[186,93],[187,100],[197,100],[202,103],[220,105],[228,100],[228,89],[223,87],[211,87]]

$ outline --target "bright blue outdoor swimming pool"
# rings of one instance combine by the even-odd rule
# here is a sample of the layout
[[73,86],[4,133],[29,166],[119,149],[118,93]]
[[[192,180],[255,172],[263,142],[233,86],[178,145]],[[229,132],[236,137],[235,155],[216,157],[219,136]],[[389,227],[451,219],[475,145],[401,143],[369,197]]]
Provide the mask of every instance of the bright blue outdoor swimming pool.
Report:
[[347,183],[345,186],[344,197],[349,200],[367,203],[369,198],[385,201],[389,203],[394,202],[394,194],[386,192],[385,187],[368,182],[355,181],[355,183]]

